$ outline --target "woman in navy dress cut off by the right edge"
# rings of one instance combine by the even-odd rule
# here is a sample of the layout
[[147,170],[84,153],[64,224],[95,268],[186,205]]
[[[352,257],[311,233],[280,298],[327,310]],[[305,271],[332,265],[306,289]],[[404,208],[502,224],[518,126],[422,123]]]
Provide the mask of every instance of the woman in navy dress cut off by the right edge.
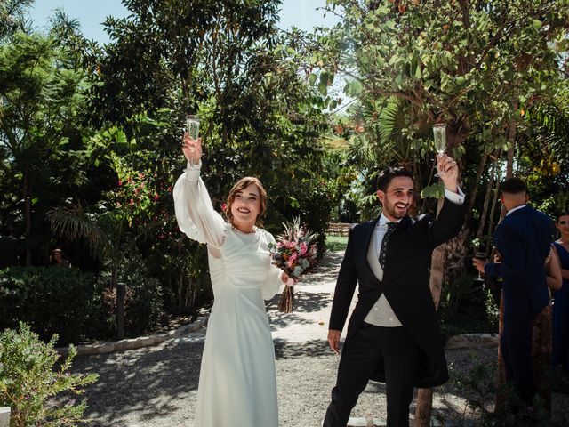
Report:
[[569,375],[569,214],[557,217],[561,237],[553,245],[561,263],[563,285],[553,294],[553,366],[562,365]]

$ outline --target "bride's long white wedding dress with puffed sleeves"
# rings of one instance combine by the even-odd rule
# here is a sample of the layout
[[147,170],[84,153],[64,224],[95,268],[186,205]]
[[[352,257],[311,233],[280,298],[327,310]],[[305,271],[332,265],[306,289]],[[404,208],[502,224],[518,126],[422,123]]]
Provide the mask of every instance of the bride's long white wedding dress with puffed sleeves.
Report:
[[263,301],[282,284],[268,253],[275,239],[225,222],[213,209],[200,166],[188,165],[173,191],[180,230],[207,244],[214,296],[195,426],[278,427],[275,350]]

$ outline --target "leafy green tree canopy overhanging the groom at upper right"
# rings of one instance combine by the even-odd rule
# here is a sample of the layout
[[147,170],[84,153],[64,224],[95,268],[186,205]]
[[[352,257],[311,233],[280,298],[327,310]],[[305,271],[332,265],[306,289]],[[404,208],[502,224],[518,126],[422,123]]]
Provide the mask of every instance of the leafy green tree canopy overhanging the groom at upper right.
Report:
[[[404,165],[413,170],[417,194],[422,190],[422,197],[440,197],[432,182],[430,128],[445,122],[447,153],[461,160],[464,187],[474,193],[468,203],[482,205],[477,186],[492,179],[492,164],[505,168],[504,154],[527,141],[519,132],[524,112],[546,105],[549,111],[564,110],[565,0],[327,4],[340,22],[306,37],[306,67],[325,80],[330,75],[347,78],[344,91],[354,100],[338,119],[343,130],[338,134],[347,141],[349,160],[362,174],[367,194],[375,190],[373,177],[379,170]],[[319,88],[325,89],[322,81]],[[551,115],[547,121],[559,124],[561,117]],[[562,130],[556,126],[557,133]],[[545,176],[547,187],[561,171],[563,149],[544,129],[530,138],[539,141],[532,152],[547,149],[551,156],[532,156],[519,173],[532,174],[533,181]],[[517,152],[526,156],[522,149]],[[365,204],[360,208],[369,210]]]

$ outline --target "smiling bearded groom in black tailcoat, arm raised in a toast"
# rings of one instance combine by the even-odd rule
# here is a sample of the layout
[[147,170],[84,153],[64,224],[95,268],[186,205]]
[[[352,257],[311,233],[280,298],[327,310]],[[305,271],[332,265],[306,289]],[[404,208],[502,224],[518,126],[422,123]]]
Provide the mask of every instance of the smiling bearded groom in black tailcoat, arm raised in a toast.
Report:
[[349,232],[328,332],[335,352],[357,282],[359,294],[325,427],[346,426],[370,379],[386,383],[389,427],[409,425],[413,387],[448,380],[429,268],[433,249],[461,230],[464,195],[458,188],[456,162],[446,156],[437,162],[445,182],[445,203],[437,220],[428,214],[416,220],[408,216],[413,175],[403,168],[388,168],[378,179],[381,216]]

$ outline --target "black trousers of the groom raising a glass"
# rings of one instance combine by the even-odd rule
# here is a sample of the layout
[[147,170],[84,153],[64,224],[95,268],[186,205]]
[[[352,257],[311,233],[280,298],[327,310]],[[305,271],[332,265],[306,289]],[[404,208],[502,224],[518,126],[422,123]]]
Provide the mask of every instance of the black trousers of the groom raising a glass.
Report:
[[323,427],[346,427],[357,398],[365,390],[381,358],[385,367],[388,427],[409,426],[409,405],[421,349],[403,326],[363,323],[342,350],[332,403]]

